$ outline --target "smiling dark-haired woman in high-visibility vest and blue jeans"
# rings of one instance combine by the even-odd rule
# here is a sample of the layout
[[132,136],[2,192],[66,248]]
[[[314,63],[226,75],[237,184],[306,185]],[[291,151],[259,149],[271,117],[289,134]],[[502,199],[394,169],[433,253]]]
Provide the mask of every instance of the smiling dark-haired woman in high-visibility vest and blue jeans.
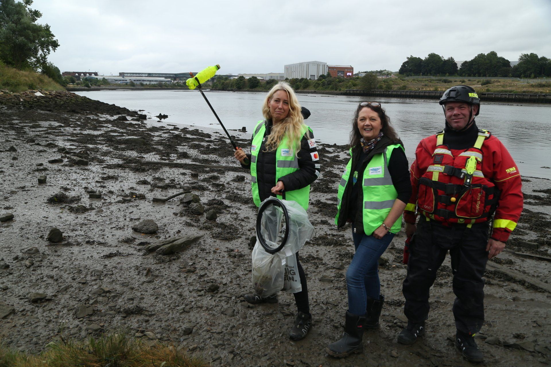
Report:
[[352,223],[356,253],[348,267],[348,311],[342,338],[327,346],[333,357],[360,352],[365,328],[379,327],[379,257],[402,227],[412,187],[404,146],[381,103],[362,102],[350,133],[350,160],[338,188],[335,224]]

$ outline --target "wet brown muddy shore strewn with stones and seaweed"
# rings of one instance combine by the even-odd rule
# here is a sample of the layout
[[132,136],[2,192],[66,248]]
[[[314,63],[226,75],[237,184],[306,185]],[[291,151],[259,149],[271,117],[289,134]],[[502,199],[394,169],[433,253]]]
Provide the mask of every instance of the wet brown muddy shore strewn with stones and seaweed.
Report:
[[[242,298],[251,291],[256,207],[249,176],[222,130],[165,126],[123,107],[56,93],[29,100],[0,95],[0,217],[13,214],[0,223],[0,342],[36,353],[60,333],[80,339],[126,330],[152,343],[172,342],[217,366],[470,365],[452,347],[449,258],[431,290],[428,332],[413,346],[396,343],[406,324],[403,232],[381,260],[387,302],[380,330],[366,332],[363,353],[344,360],[326,355],[327,343],[342,333],[345,271],[354,254],[350,228],[332,224],[345,146],[318,144],[322,175],[312,185],[309,209],[315,234],[300,251],[314,325],[306,339],[291,342],[292,294],[256,306]],[[249,145],[250,135],[232,133]],[[40,176],[46,183],[38,183]],[[199,202],[192,195],[152,202],[184,190]],[[524,178],[523,192],[525,211],[507,249],[549,258],[551,181]],[[197,214],[196,204],[204,213]],[[207,212],[217,218],[208,220]],[[132,229],[144,220],[154,221],[156,232]],[[57,243],[47,239],[54,227],[62,232]],[[203,237],[174,254],[147,250],[160,240],[195,235]],[[513,272],[485,273],[487,320],[477,336],[482,365],[551,363],[551,293],[529,281],[548,284],[551,263],[506,252],[491,263],[528,281]]]

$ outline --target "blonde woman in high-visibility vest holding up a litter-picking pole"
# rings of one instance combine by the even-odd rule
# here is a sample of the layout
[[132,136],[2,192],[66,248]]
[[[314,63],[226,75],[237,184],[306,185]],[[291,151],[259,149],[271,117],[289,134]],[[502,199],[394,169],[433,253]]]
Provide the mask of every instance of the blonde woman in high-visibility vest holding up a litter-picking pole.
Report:
[[[320,161],[312,129],[304,124],[310,116],[306,108],[301,108],[295,92],[284,81],[274,85],[264,99],[262,106],[264,120],[257,123],[252,134],[251,154],[241,149],[235,151],[235,158],[241,166],[250,169],[252,198],[256,206],[269,196],[298,202],[308,208],[310,184],[320,176]],[[244,165],[245,158],[249,165]],[[289,332],[295,341],[306,336],[312,324],[306,276],[296,254],[302,291],[294,293],[298,315]],[[249,303],[276,303],[277,294],[260,297],[257,294],[245,295]]]

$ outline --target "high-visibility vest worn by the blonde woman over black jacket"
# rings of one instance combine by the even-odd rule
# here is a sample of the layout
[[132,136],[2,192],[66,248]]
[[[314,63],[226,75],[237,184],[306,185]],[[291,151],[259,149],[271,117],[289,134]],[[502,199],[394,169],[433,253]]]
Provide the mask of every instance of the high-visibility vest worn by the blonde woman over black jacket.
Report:
[[[303,125],[301,137],[304,136],[308,130],[310,130],[310,132],[312,131],[310,127]],[[262,139],[264,138],[264,132],[266,132],[266,125],[264,124],[264,120],[262,120],[256,124],[255,131],[252,134],[251,145],[251,190],[252,199],[256,206],[260,206],[261,203],[260,195],[258,194],[258,183],[256,181],[256,158],[258,157],[258,151],[261,149],[260,147],[262,145]],[[280,177],[298,170],[298,157],[296,156],[296,152],[293,151],[287,135],[285,135],[283,136],[281,143],[279,143],[276,151],[276,182],[274,182],[274,186],[277,184]],[[277,195],[277,198],[283,199],[283,196]],[[308,203],[310,201],[310,185],[298,190],[285,191],[285,200],[294,200],[298,202],[304,210],[308,209]]]

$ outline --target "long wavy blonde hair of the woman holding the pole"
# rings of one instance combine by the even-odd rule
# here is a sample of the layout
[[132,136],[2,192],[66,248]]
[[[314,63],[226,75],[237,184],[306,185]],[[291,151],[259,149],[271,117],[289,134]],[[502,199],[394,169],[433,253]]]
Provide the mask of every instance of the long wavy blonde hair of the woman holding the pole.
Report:
[[[279,144],[281,143],[283,136],[287,135],[287,138],[290,141],[290,147],[293,149],[294,155],[298,154],[300,151],[300,140],[302,139],[302,127],[304,126],[304,117],[300,112],[299,100],[296,98],[295,91],[291,86],[285,81],[280,81],[278,84],[274,85],[272,89],[264,98],[264,103],[262,105],[262,114],[266,120],[272,119],[272,114],[270,113],[269,100],[272,99],[273,95],[278,90],[284,90],[289,96],[289,114],[281,122],[272,126],[272,131],[266,139],[266,151],[276,150]],[[310,133],[306,132],[310,137]]]

